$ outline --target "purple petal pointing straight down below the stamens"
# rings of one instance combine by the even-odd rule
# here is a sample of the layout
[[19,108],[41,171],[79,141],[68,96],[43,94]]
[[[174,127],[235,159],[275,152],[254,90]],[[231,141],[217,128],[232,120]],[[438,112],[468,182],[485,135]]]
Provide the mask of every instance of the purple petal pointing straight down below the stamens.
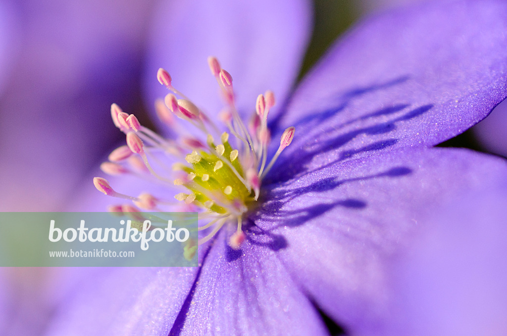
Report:
[[232,232],[226,231],[221,230],[204,260],[195,291],[172,334],[328,334],[312,304],[266,245],[266,237],[251,236],[235,251],[225,239]]

